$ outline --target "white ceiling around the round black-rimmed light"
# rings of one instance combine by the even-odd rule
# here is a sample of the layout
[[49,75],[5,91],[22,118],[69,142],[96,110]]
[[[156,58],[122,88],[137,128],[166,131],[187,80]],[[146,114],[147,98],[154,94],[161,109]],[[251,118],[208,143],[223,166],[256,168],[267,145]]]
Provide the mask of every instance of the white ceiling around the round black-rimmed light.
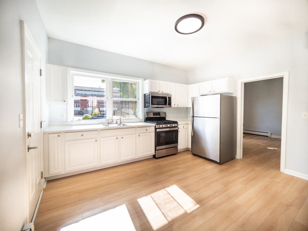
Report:
[[[191,70],[308,31],[308,1],[37,0],[51,38]],[[186,14],[206,22],[178,34]]]

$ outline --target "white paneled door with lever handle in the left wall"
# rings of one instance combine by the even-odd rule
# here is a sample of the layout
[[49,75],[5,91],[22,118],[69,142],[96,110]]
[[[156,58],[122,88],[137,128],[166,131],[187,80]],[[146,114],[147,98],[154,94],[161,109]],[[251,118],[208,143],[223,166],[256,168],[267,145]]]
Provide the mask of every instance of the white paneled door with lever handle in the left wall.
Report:
[[[28,218],[31,220],[41,192],[41,54],[23,23],[26,99],[26,181]],[[32,147],[33,149],[30,149]]]

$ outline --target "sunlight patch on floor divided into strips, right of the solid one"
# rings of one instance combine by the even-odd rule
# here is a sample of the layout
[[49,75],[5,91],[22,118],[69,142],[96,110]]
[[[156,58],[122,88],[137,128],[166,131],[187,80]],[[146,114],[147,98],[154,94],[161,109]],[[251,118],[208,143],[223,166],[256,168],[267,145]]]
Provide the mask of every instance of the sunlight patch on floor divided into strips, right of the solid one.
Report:
[[137,199],[153,230],[160,229],[184,213],[200,207],[178,186],[172,185]]

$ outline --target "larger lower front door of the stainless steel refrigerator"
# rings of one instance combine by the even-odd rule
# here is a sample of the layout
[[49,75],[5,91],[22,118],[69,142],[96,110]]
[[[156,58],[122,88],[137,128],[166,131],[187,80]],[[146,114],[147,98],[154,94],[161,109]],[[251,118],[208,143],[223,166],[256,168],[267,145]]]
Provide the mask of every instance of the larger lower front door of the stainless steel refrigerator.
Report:
[[191,151],[220,162],[220,119],[193,117]]

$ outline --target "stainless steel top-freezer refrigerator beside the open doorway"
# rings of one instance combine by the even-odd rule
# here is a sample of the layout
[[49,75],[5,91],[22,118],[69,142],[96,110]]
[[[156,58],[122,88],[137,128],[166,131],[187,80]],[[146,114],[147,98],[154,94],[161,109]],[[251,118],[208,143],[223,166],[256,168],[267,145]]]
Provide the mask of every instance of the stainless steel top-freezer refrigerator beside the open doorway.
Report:
[[236,155],[236,97],[204,95],[192,98],[191,151],[194,156],[223,164]]

